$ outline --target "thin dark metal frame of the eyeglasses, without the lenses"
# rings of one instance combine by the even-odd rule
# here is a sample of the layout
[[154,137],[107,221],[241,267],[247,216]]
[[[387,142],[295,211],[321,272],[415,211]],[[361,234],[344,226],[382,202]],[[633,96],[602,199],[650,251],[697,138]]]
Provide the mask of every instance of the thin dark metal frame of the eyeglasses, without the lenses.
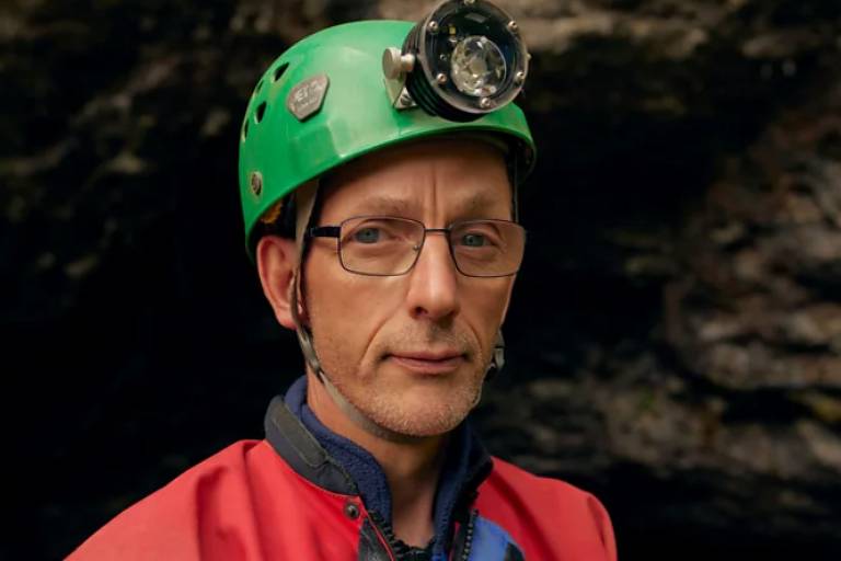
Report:
[[[396,219],[396,220],[403,220],[406,222],[414,222],[418,225],[423,229],[423,237],[420,238],[420,243],[415,251],[415,259],[412,261],[412,264],[406,267],[405,271],[402,273],[362,273],[360,271],[354,271],[353,268],[348,268],[347,265],[345,265],[345,260],[342,256],[342,227],[345,226],[345,224],[352,221],[352,220],[359,220],[360,218],[368,218],[368,219]],[[403,216],[389,216],[389,215],[360,215],[360,216],[352,216],[349,218],[345,218],[337,225],[326,225],[326,226],[313,226],[307,229],[306,231],[306,238],[312,239],[312,238],[335,238],[336,239],[336,245],[338,250],[338,262],[342,265],[342,268],[347,271],[348,273],[353,273],[355,275],[364,275],[364,276],[403,276],[407,275],[413,268],[415,268],[415,265],[417,264],[417,260],[420,257],[420,252],[424,251],[424,244],[426,243],[426,234],[427,233],[441,233],[446,236],[447,239],[447,247],[450,250],[450,257],[452,259],[452,263],[456,265],[456,270],[461,273],[464,276],[469,276],[472,278],[500,278],[506,276],[514,276],[522,266],[522,257],[523,255],[520,255],[520,262],[517,265],[517,268],[510,273],[505,273],[500,275],[471,275],[469,273],[465,273],[461,270],[461,266],[459,266],[459,260],[456,259],[456,252],[452,249],[452,240],[450,239],[450,234],[452,233],[453,228],[464,225],[470,225],[474,222],[504,222],[508,225],[514,225],[517,228],[519,228],[522,231],[522,247],[523,247],[523,255],[526,253],[526,228],[523,228],[521,225],[515,222],[514,220],[500,220],[497,218],[476,218],[472,220],[457,220],[454,222],[451,222],[446,228],[427,228],[424,222],[420,220],[415,220],[414,218],[405,218]]]

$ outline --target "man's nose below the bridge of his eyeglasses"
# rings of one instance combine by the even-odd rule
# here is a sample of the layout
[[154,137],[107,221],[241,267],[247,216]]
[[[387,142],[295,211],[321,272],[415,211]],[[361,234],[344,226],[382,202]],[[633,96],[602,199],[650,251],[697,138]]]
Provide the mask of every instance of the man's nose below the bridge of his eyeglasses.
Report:
[[440,321],[459,311],[459,272],[452,261],[447,234],[428,232],[410,275],[406,305],[415,318]]

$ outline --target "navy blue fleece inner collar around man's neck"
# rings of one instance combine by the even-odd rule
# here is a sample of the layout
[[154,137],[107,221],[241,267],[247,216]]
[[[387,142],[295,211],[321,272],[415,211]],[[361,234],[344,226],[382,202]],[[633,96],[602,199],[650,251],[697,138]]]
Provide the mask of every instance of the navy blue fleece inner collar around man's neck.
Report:
[[[324,426],[307,404],[307,377],[298,378],[286,393],[287,408],[321,446],[350,474],[369,512],[379,513],[391,524],[391,492],[385,473],[367,450]],[[470,424],[461,423],[452,433],[434,504],[434,554],[448,549],[452,539],[456,511],[472,499],[473,492],[491,472],[491,458]]]

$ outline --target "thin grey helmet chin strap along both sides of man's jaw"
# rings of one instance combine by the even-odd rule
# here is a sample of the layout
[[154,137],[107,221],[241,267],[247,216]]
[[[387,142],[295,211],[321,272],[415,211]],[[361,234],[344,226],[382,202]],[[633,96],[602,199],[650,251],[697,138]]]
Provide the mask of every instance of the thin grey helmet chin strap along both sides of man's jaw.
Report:
[[[303,322],[301,321],[300,314],[298,313],[298,307],[300,304],[299,296],[301,300],[303,298],[303,289],[302,289],[303,257],[307,254],[307,238],[304,234],[307,232],[307,229],[310,226],[310,220],[312,219],[312,213],[313,213],[313,208],[315,207],[318,188],[319,188],[319,183],[318,181],[313,180],[306,183],[304,185],[301,185],[295,193],[296,209],[297,209],[295,238],[297,242],[296,245],[298,248],[298,255],[297,255],[297,263],[296,263],[295,273],[293,273],[295,276],[293,276],[292,287],[290,288],[291,294],[289,295],[289,302],[290,302],[290,312],[292,316],[292,323],[295,324],[295,332],[298,335],[298,344],[301,347],[301,353],[303,353],[303,358],[307,362],[307,366],[310,368],[310,370],[312,370],[312,373],[315,375],[319,381],[324,386],[324,389],[326,390],[327,394],[331,397],[333,402],[336,404],[336,407],[348,419],[350,419],[357,426],[362,428],[365,432],[373,436],[377,436],[387,440],[396,440],[396,442],[405,440],[406,437],[404,435],[390,431],[371,421],[361,411],[359,411],[356,408],[356,405],[350,403],[347,400],[347,398],[345,398],[342,394],[338,388],[336,388],[336,386],[331,381],[330,377],[324,371],[324,368],[322,368],[321,360],[319,359],[319,355],[315,353],[315,344],[312,341],[312,333],[303,324]],[[493,377],[497,371],[499,371],[503,368],[504,364],[505,364],[505,342],[503,340],[503,332],[499,331],[497,333],[497,339],[494,346],[494,353],[491,358],[491,364],[487,367],[486,379]],[[479,404],[479,401],[481,398],[482,398],[482,387],[480,387],[480,391],[476,393],[476,399],[471,405],[471,409]]]

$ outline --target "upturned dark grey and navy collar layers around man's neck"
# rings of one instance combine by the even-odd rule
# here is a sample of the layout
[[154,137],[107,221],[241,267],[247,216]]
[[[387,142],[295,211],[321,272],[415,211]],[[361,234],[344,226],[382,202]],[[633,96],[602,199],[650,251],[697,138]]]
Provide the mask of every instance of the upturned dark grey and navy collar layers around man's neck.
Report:
[[[366,508],[391,523],[385,473],[367,450],[324,426],[306,403],[307,377],[272,400],[266,439],[300,476],[335,493],[358,494]],[[479,485],[491,473],[491,457],[465,421],[452,433],[434,507],[434,552],[446,551],[453,522],[464,520]]]

